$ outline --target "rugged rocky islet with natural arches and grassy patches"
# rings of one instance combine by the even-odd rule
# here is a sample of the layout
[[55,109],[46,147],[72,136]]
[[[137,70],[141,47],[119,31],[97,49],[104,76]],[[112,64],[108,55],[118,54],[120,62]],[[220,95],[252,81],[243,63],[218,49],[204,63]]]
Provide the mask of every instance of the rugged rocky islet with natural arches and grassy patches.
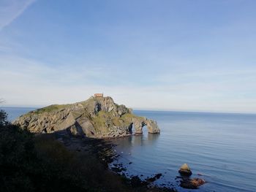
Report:
[[111,97],[91,97],[75,104],[50,105],[21,115],[13,124],[34,133],[53,133],[67,130],[86,137],[123,137],[142,134],[147,126],[151,134],[159,133],[157,122],[132,114],[124,105],[116,104]]

